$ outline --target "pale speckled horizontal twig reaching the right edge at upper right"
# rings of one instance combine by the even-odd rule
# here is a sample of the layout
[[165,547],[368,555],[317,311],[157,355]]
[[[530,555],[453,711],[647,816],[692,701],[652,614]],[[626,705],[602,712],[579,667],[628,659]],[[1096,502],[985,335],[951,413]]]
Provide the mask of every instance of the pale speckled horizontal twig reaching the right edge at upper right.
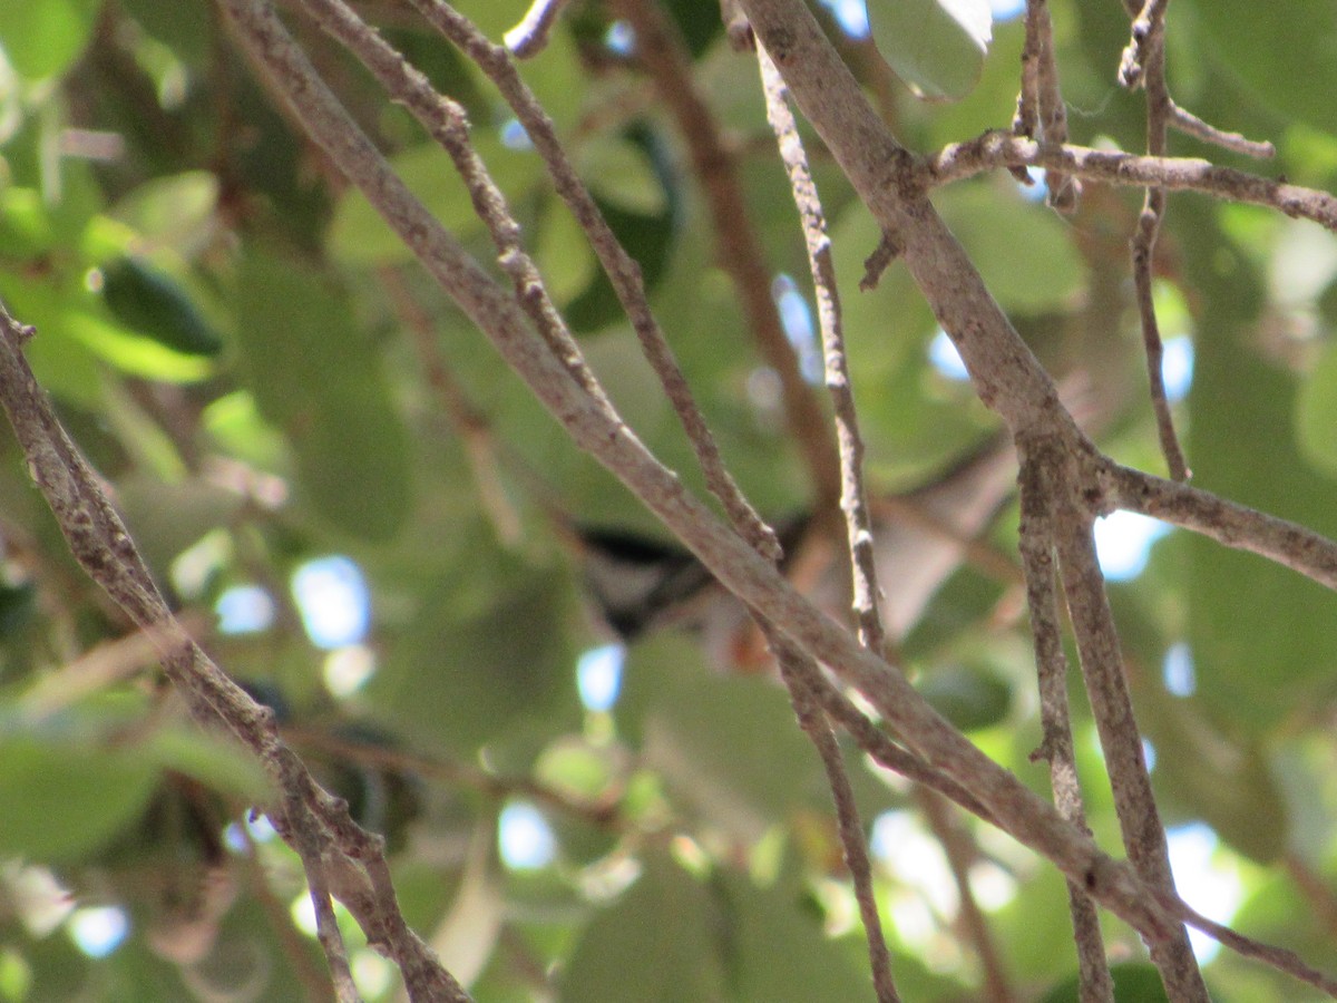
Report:
[[1270,206],[1292,219],[1313,219],[1337,231],[1337,198],[1326,191],[1190,156],[1140,156],[1084,146],[1042,147],[1009,132],[985,132],[977,139],[944,147],[925,160],[924,185],[933,187],[1016,164],[1060,170],[1108,185],[1201,191],[1231,202]]

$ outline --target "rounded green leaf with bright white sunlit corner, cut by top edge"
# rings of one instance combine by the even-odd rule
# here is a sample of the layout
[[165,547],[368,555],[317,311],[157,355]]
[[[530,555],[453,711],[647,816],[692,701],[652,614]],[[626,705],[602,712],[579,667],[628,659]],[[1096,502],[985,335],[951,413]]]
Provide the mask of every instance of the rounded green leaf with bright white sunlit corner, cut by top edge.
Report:
[[993,15],[988,0],[869,0],[882,59],[928,100],[956,100],[980,78]]

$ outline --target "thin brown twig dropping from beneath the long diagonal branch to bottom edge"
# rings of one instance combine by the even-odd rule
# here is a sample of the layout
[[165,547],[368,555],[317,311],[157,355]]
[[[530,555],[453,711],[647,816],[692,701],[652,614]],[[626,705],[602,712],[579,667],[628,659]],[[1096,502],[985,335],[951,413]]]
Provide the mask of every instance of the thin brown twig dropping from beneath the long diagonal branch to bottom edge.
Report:
[[873,971],[873,988],[877,991],[878,1003],[900,1003],[901,998],[892,976],[892,955],[886,950],[882,920],[873,892],[873,868],[868,859],[864,826],[858,820],[858,806],[854,804],[854,789],[849,784],[840,745],[809,682],[820,678],[821,669],[774,626],[765,621],[759,623],[766,634],[766,642],[775,655],[785,687],[789,690],[798,725],[817,748],[817,754],[821,756],[822,766],[826,770],[826,785],[830,788],[836,805],[836,824],[840,829],[841,847],[845,851],[845,865],[849,868],[854,885],[858,915],[864,920],[864,935],[868,940],[869,963]]

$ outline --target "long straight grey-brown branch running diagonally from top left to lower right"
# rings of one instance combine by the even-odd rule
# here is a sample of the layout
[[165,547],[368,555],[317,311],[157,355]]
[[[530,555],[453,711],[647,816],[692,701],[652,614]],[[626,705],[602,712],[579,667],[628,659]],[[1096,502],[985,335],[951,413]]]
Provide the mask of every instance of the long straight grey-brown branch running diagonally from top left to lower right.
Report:
[[[761,37],[774,43],[775,25],[757,17],[763,8],[762,1],[745,0],[743,5]],[[804,599],[767,560],[693,497],[626,425],[607,413],[600,401],[583,391],[570,370],[535,337],[527,316],[512,297],[496,286],[394,175],[385,158],[316,75],[267,4],[262,0],[226,0],[225,9],[277,90],[298,111],[308,134],[366,194],[578,445],[636,493],[730,591],[766,619],[781,625],[782,633],[798,647],[860,689],[912,750],[977,797],[1001,828],[1052,860],[1064,875],[1143,936],[1159,941],[1179,929],[1179,916],[1171,913],[1127,864],[1102,853],[1088,836],[1072,829],[1051,805],[936,714],[904,677],[864,650],[848,631]],[[785,15],[801,23],[806,11],[797,4],[797,11],[786,8]],[[774,55],[774,45],[769,48]],[[792,59],[794,53],[789,55]],[[779,64],[783,70],[783,63]],[[856,177],[866,181],[873,175],[865,166]],[[931,223],[931,234],[936,235],[940,226]],[[941,233],[947,235],[945,229]],[[916,251],[923,251],[923,247],[916,247]],[[957,247],[957,257],[947,265],[959,263],[963,258]],[[947,280],[947,274],[936,275],[931,263],[921,263],[919,270],[925,271],[929,280]],[[925,285],[936,289],[933,282],[925,281]],[[1044,386],[1052,392],[1052,385],[1028,353],[1017,357],[1016,348],[1008,346],[1005,357],[993,360],[999,346],[977,348],[984,338],[973,336],[981,334],[981,328],[975,324],[963,329],[972,336],[963,344],[973,365],[979,366],[983,360],[999,362],[995,369],[983,373],[980,381],[985,391],[995,392],[1012,420],[1027,425],[1043,423],[1054,415],[1062,416],[1056,411],[1056,395],[1046,400],[1042,393],[1039,403],[1003,401],[997,395],[1016,380],[1042,392]],[[1062,417],[1059,423],[1063,423]],[[374,868],[368,865],[373,889],[381,892],[388,888],[389,872],[382,860],[370,863],[377,864]]]

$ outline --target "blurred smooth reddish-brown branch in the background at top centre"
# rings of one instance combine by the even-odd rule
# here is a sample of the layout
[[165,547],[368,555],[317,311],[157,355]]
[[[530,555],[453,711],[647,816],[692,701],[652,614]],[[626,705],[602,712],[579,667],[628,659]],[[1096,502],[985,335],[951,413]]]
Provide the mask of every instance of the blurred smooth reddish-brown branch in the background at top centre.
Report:
[[656,0],[616,0],[614,4],[636,33],[635,56],[646,68],[682,132],[693,173],[710,205],[719,265],[733,280],[747,318],[747,329],[762,358],[779,376],[790,432],[802,451],[816,492],[814,508],[833,508],[841,492],[840,459],[826,429],[826,417],[813,388],[798,369],[770,293],[766,250],[747,217],[747,201],[715,116],[697,90],[686,45]]

